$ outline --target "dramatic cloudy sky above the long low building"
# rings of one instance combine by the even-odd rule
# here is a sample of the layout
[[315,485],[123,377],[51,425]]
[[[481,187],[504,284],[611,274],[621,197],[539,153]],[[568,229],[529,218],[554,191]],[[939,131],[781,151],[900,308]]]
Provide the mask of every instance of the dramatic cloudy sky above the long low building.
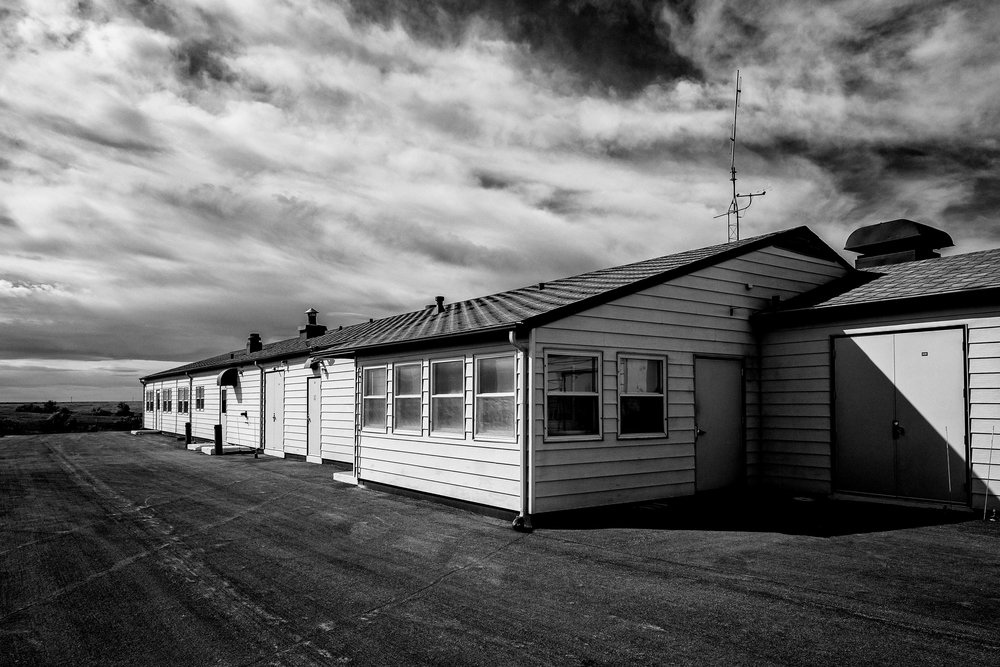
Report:
[[1000,3],[3,0],[0,401],[744,237],[1000,246]]

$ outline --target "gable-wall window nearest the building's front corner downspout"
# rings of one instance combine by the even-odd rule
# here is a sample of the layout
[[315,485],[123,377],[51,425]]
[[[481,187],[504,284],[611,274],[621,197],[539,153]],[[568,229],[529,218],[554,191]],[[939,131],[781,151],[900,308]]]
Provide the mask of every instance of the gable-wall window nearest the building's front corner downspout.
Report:
[[548,436],[600,435],[600,357],[545,357],[545,427]]

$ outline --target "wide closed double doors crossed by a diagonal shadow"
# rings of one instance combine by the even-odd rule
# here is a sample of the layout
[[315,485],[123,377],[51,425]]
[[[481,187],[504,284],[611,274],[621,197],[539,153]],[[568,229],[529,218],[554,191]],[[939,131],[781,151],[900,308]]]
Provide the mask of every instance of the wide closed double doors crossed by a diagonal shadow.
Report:
[[837,488],[964,502],[964,331],[838,338],[834,350]]

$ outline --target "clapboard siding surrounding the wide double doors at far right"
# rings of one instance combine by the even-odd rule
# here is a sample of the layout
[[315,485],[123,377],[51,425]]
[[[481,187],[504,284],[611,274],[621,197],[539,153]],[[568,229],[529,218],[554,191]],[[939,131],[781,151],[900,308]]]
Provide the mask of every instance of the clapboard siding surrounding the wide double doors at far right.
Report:
[[829,493],[832,477],[831,337],[942,326],[968,328],[972,504],[1000,507],[1000,318],[977,310],[893,315],[789,328],[764,336],[760,474],[786,488]]

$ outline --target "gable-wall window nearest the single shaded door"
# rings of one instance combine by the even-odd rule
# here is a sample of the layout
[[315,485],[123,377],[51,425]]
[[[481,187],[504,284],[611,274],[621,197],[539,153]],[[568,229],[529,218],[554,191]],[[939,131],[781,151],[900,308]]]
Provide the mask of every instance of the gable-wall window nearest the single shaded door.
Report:
[[665,435],[664,360],[622,356],[618,360],[618,433]]

